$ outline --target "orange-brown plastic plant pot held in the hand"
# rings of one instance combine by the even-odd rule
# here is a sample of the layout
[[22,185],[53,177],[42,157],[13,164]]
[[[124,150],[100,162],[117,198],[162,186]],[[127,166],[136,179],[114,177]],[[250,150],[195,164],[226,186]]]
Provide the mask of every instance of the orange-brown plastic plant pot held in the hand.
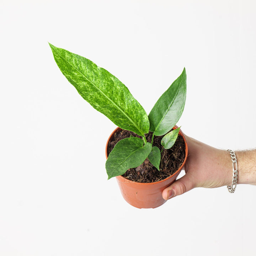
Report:
[[[174,129],[176,128],[177,127],[175,126]],[[108,138],[106,145],[106,158],[108,157],[108,143],[119,130],[121,130],[121,128],[116,128]],[[166,200],[162,198],[162,191],[176,180],[182,170],[182,167],[185,165],[188,155],[187,142],[181,130],[179,131],[179,134],[182,135],[186,146],[185,160],[180,169],[178,169],[172,176],[165,180],[152,183],[134,182],[124,178],[123,176],[116,177],[122,196],[129,204],[137,208],[156,208],[166,202]]]

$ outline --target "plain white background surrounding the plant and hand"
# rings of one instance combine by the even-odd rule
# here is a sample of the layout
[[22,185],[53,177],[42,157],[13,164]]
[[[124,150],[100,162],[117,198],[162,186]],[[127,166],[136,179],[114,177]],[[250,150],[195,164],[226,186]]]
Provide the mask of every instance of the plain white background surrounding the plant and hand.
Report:
[[1,0],[0,22],[0,255],[255,255],[254,186],[124,201],[105,171],[116,126],[47,43],[110,71],[147,113],[185,66],[182,131],[255,148],[255,1]]

